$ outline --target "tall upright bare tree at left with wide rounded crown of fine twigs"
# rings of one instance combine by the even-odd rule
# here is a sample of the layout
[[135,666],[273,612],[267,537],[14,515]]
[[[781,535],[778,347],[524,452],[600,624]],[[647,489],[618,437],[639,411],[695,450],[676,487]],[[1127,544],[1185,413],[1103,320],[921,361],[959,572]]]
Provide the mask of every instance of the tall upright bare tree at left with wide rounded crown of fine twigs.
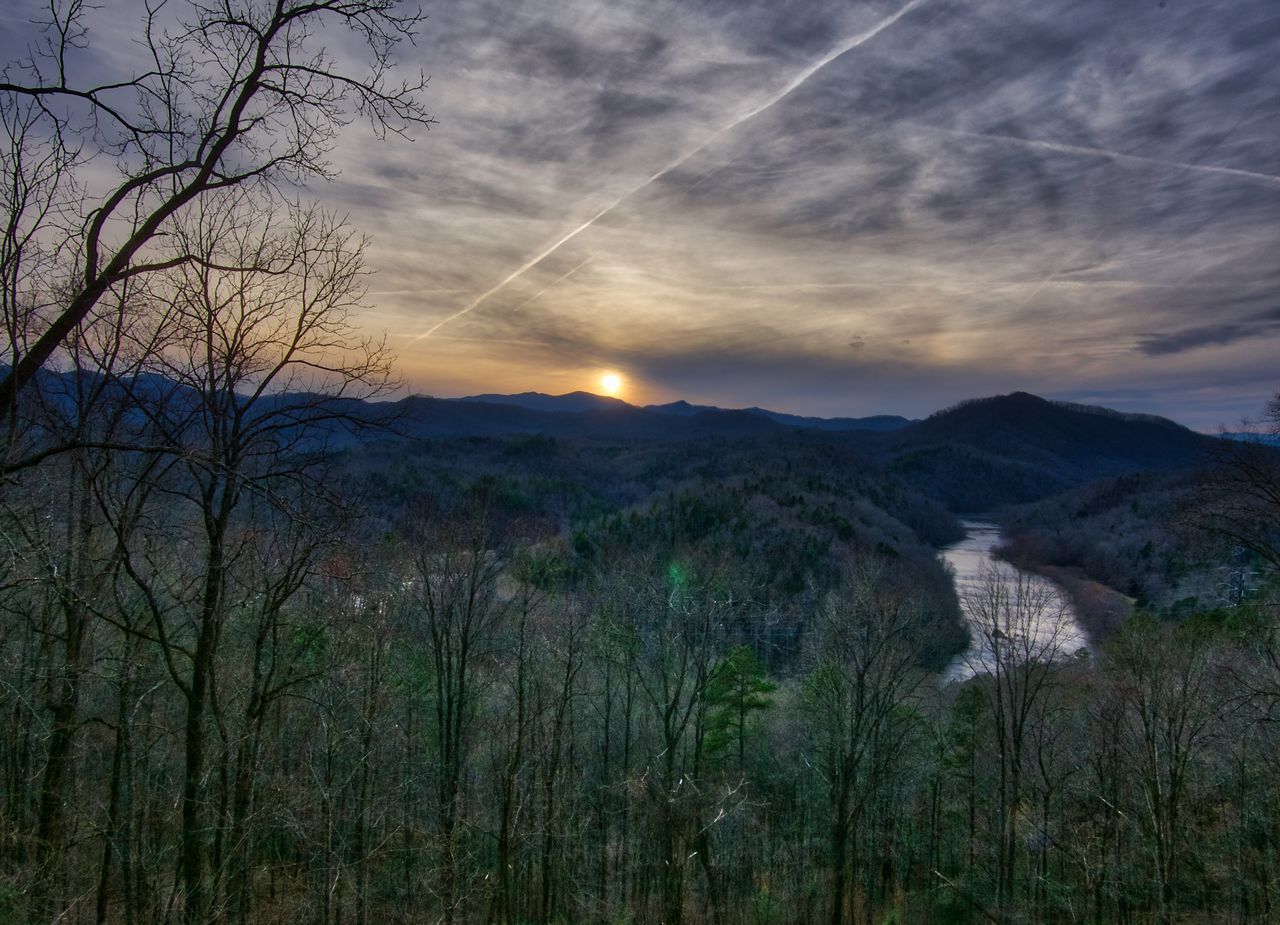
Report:
[[[348,324],[364,269],[362,242],[344,225],[316,209],[262,214],[236,191],[183,219],[173,246],[198,260],[148,280],[150,324],[131,334],[160,374],[129,384],[138,426],[170,452],[125,461],[134,468],[115,490],[152,496],[148,534],[113,525],[148,612],[146,638],[184,702],[179,869],[186,921],[204,922],[214,899],[209,727],[221,732],[228,697],[221,649],[236,627],[252,627],[243,716],[261,724],[294,681],[275,646],[279,621],[332,541],[333,498],[298,450],[346,418],[346,398],[392,380],[383,347]],[[239,764],[233,826],[252,801],[255,756]]]

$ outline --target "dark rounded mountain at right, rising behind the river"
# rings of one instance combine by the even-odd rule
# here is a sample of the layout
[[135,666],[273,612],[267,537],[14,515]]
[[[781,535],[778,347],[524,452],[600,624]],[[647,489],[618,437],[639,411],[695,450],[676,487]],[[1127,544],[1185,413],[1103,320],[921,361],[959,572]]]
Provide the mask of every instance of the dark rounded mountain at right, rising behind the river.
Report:
[[1126,472],[1190,468],[1215,438],[1149,415],[1025,391],[963,402],[868,449],[952,510],[991,510]]

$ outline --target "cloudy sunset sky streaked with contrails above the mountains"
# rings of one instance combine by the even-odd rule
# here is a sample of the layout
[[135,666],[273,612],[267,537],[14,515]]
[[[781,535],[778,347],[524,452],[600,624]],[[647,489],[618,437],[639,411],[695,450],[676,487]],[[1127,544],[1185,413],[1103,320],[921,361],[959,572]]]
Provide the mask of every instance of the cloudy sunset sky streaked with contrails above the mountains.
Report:
[[1280,388],[1275,0],[424,10],[436,124],[312,189],[412,391],[1208,430]]

